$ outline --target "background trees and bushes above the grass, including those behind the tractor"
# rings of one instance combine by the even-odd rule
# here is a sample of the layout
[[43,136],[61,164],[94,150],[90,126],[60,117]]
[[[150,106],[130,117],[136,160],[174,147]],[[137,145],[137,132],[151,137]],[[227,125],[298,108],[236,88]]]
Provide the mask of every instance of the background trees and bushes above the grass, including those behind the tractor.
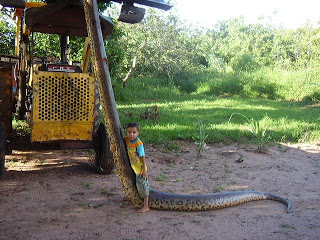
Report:
[[[108,12],[109,5],[100,6]],[[15,30],[0,15],[0,52],[14,52]],[[276,28],[246,24],[243,18],[221,21],[211,29],[195,29],[173,14],[148,9],[139,24],[112,19],[113,34],[106,40],[113,79],[132,75],[188,81],[202,71],[252,72],[262,67],[295,69],[319,65],[320,28]],[[35,55],[59,55],[58,36],[34,34]],[[71,38],[72,60],[82,57],[83,38]]]

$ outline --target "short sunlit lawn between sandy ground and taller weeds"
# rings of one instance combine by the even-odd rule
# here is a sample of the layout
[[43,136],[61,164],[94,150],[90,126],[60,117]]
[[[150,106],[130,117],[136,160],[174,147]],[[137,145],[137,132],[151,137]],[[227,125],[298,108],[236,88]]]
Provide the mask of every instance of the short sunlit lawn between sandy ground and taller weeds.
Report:
[[[143,120],[140,113],[146,108],[158,106],[159,118]],[[270,141],[301,142],[320,139],[320,106],[301,102],[246,99],[241,97],[217,98],[206,95],[182,95],[176,100],[140,100],[136,103],[118,103],[120,121],[141,125],[141,138],[149,143],[168,140],[193,140],[199,134],[201,120],[206,125],[208,142],[254,141],[248,130],[248,119],[259,121],[266,129]],[[134,113],[130,115],[128,113]]]

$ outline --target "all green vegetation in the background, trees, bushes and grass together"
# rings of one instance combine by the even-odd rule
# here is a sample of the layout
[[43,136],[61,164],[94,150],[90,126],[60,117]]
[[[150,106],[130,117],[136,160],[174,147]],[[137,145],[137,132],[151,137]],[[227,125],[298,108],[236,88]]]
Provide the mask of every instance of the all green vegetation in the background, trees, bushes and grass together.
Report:
[[[0,52],[13,53],[4,10]],[[198,30],[152,9],[139,24],[113,21],[105,44],[120,120],[139,122],[145,142],[172,150],[179,139],[238,141],[262,150],[270,141],[320,139],[319,26],[283,29],[235,18]],[[57,36],[34,40],[36,55],[59,55]],[[81,60],[84,39],[70,41],[71,60]]]

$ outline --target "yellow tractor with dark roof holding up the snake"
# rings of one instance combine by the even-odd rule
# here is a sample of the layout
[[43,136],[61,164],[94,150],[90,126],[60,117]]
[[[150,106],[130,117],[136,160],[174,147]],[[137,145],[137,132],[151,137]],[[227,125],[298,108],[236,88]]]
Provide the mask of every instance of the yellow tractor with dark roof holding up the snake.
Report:
[[[128,23],[141,21],[145,13],[134,3],[165,10],[171,7],[161,0],[116,2],[123,4],[119,20]],[[14,8],[16,20],[15,55],[0,53],[0,177],[5,154],[15,145],[14,111],[18,119],[29,123],[32,143],[53,143],[59,149],[93,148],[97,171],[111,173],[107,132],[99,123],[99,93],[94,73],[89,70],[90,46],[82,1],[0,0],[0,4]],[[105,38],[112,33],[113,23],[101,14],[99,20]],[[60,56],[33,56],[34,32],[59,35]],[[69,60],[69,36],[86,37],[81,63]]]

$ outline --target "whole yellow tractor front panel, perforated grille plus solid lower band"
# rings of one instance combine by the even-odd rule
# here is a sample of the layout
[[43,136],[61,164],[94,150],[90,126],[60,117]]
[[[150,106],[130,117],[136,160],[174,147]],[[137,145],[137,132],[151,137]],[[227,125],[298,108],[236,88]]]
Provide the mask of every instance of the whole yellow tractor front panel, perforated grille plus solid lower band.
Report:
[[31,141],[92,140],[92,74],[35,71],[32,86]]

